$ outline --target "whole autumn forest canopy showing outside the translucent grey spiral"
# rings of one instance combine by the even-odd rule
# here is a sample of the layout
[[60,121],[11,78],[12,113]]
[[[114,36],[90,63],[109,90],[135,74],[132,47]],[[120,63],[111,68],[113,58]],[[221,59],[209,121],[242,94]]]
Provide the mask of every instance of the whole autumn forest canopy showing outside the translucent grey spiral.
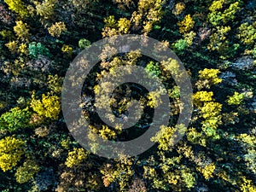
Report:
[[[154,38],[157,49],[172,49],[182,61],[193,88],[189,125],[176,125],[185,108],[172,77],[183,78],[176,60],[155,61],[139,50],[108,58],[109,46],[84,79],[90,149],[83,148],[61,110],[67,69],[98,40],[127,34]],[[100,84],[124,66],[161,80],[170,113],[160,116],[169,121],[143,154],[106,159],[96,155],[104,146],[95,134],[112,143],[140,137],[162,107],[164,91],[154,84],[154,91]],[[255,88],[255,0],[0,0],[0,191],[255,192]],[[110,99],[96,102],[110,90]],[[110,106],[110,121],[125,122],[132,99],[142,114],[129,129],[96,113]],[[183,137],[174,144],[177,130]]]

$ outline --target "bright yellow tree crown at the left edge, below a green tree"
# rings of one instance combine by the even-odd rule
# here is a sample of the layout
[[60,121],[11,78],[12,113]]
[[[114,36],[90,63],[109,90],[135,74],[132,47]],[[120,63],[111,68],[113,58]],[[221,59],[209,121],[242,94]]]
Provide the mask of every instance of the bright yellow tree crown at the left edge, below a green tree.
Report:
[[0,168],[3,172],[11,170],[25,154],[25,142],[15,137],[0,140]]

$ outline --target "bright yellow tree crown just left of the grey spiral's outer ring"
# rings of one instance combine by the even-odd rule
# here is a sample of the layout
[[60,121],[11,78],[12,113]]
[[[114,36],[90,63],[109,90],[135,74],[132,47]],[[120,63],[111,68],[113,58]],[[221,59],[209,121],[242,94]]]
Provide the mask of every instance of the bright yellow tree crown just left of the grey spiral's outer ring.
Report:
[[42,100],[37,100],[33,93],[30,105],[40,116],[54,120],[58,119],[58,115],[61,111],[60,97],[50,96],[49,93],[47,96],[43,94]]

